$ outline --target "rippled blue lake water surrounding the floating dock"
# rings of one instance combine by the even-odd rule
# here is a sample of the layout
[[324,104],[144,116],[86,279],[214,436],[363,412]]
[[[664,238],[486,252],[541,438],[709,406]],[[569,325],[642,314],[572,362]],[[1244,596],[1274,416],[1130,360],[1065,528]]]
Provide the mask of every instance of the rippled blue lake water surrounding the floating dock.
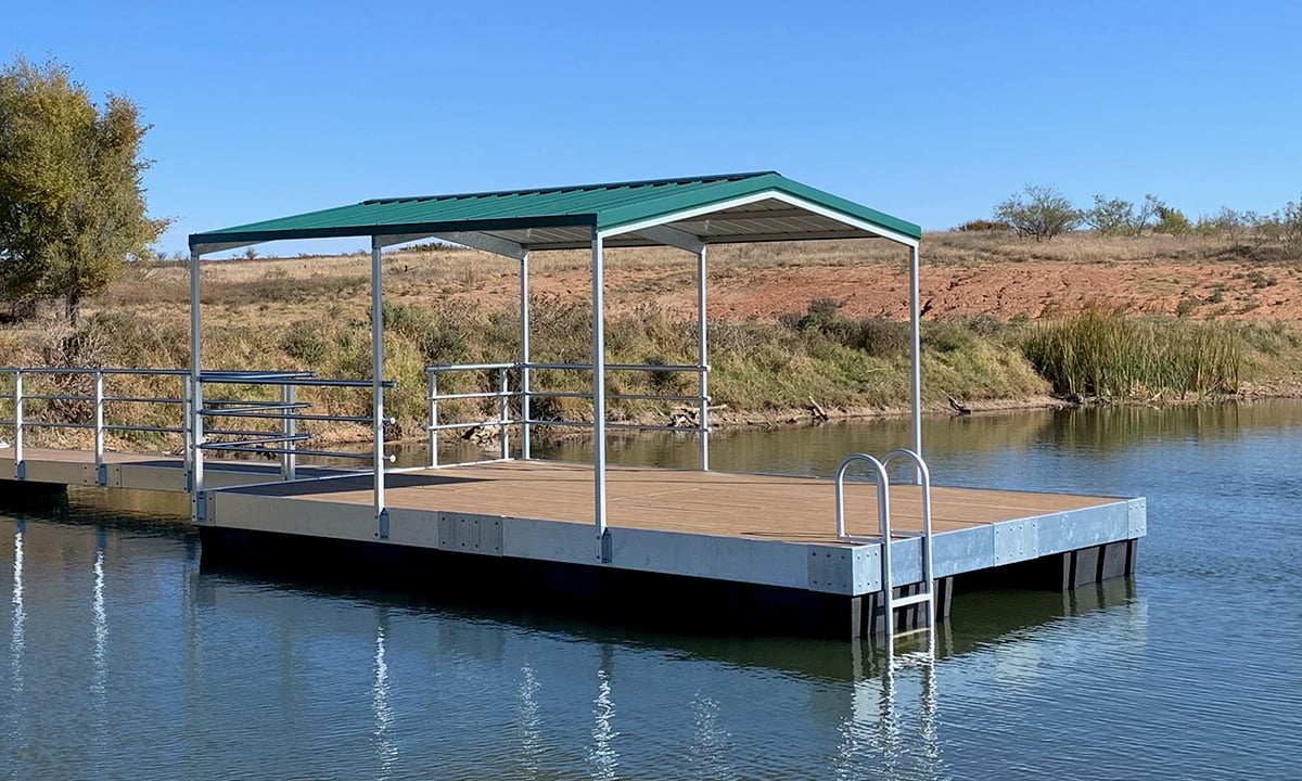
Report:
[[[713,465],[825,475],[906,440],[732,432]],[[0,777],[1302,778],[1302,405],[937,419],[924,443],[943,484],[1147,496],[1138,574],[956,596],[940,659],[885,674],[867,643],[210,573],[177,497],[77,489],[0,512]]]

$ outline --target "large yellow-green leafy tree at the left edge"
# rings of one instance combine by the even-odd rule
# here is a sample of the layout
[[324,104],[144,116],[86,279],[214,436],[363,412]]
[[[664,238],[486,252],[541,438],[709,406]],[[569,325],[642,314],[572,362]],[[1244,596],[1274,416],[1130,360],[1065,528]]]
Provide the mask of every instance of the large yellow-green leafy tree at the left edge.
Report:
[[145,211],[138,113],[120,95],[98,108],[59,62],[0,70],[0,295],[62,298],[76,324],[82,298],[148,256],[168,221]]

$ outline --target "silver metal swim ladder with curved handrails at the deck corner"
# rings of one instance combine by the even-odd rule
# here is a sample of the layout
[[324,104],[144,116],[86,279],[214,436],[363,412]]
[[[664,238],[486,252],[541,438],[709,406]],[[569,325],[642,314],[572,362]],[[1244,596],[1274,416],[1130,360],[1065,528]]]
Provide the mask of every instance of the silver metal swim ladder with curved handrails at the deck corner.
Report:
[[[918,486],[922,489],[922,530],[897,531],[891,527],[891,476],[887,467],[894,461],[907,461],[914,469]],[[868,465],[868,474],[876,486],[878,495],[878,536],[852,535],[845,527],[845,475],[855,463]],[[927,463],[913,450],[896,449],[888,452],[880,459],[867,453],[852,453],[841,459],[836,467],[836,539],[842,543],[880,543],[881,545],[881,625],[885,634],[885,648],[888,659],[894,656],[896,614],[894,612],[911,605],[924,605],[926,626],[919,630],[928,634],[928,653],[935,652],[935,626],[936,626],[936,582],[932,571],[931,549],[931,473]],[[894,596],[894,582],[891,573],[891,548],[896,536],[921,538],[922,545],[922,583],[917,594]]]

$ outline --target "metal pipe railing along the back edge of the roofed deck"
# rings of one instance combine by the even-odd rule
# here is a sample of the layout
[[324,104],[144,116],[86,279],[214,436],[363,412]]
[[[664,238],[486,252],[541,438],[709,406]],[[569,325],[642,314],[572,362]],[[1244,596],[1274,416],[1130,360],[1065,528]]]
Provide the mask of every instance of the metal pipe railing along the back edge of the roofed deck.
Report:
[[[591,390],[549,390],[531,385],[535,371],[592,371],[590,363],[538,363],[538,362],[501,362],[501,363],[449,363],[432,364],[424,367],[428,375],[428,404],[430,424],[426,431],[430,435],[430,466],[439,466],[439,432],[452,430],[490,428],[499,439],[497,461],[510,458],[510,443],[508,430],[512,426],[519,427],[519,457],[531,457],[530,430],[536,426],[592,428],[592,420],[574,420],[562,418],[540,418],[533,413],[534,401],[544,398],[581,398],[591,400]],[[609,372],[664,372],[664,374],[695,374],[698,375],[698,392],[684,393],[607,393],[609,401],[647,401],[647,402],[678,402],[693,405],[697,411],[695,423],[685,422],[681,426],[668,426],[656,423],[637,422],[607,422],[607,430],[637,430],[637,431],[673,431],[680,433],[694,433],[700,437],[700,469],[710,465],[710,396],[704,377],[710,372],[708,366],[665,364],[665,363],[607,363]],[[484,375],[488,389],[449,393],[440,389],[439,376],[456,372],[479,372]],[[454,400],[492,400],[492,417],[478,420],[441,420],[439,402]],[[691,407],[687,407],[691,409]]]

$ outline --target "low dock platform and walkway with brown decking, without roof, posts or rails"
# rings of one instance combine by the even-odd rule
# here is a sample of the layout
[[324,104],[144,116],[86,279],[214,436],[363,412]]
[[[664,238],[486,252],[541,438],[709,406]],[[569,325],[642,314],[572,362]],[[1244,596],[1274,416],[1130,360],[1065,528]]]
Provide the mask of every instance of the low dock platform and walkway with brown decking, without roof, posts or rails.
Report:
[[[0,474],[13,474],[7,454],[0,450]],[[95,486],[86,458],[29,449],[27,479]],[[113,453],[105,461],[109,487],[185,491],[178,458]],[[368,473],[299,470],[298,479],[280,482],[273,465],[217,461],[207,469],[214,487],[203,493],[198,523],[206,561],[318,573],[398,566],[404,583],[418,587],[477,590],[526,605],[570,603],[608,616],[681,613],[698,623],[715,612],[720,625],[743,631],[850,638],[881,629],[881,544],[837,539],[828,479],[611,466],[609,549],[594,562],[586,465],[501,461],[391,473],[383,540]],[[247,484],[259,478],[268,482]],[[1005,583],[1039,588],[1125,577],[1146,532],[1141,499],[947,487],[931,495],[937,618],[948,614],[956,577],[1003,574]],[[845,483],[850,532],[875,531],[876,501],[875,484]],[[892,486],[891,508],[900,534],[891,579],[917,584],[921,487]],[[319,557],[320,566],[305,557]],[[921,621],[902,613],[897,626]]]

